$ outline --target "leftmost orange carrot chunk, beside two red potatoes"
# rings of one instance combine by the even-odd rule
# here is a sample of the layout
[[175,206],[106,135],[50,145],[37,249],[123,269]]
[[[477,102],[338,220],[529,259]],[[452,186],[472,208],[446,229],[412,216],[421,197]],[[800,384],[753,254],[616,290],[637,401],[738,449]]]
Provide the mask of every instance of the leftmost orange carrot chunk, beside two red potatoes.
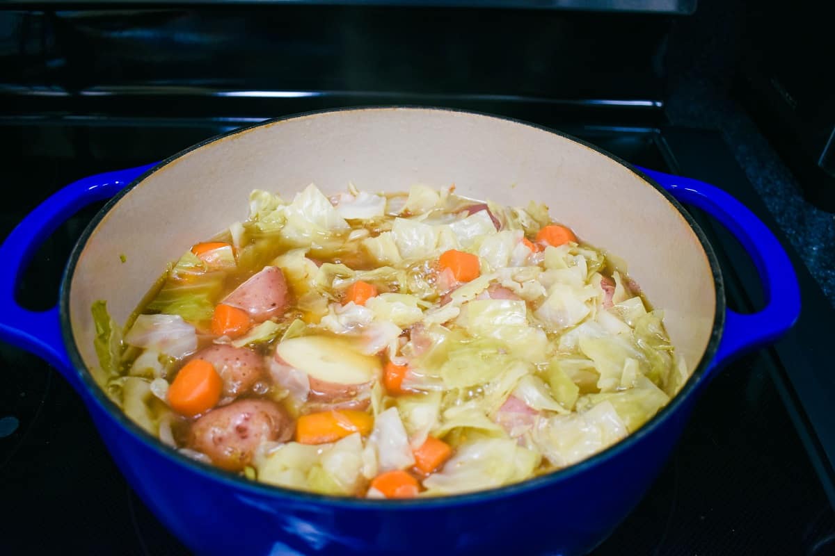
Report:
[[215,366],[203,359],[192,359],[168,388],[168,403],[177,413],[193,417],[214,408],[222,391],[223,379]]

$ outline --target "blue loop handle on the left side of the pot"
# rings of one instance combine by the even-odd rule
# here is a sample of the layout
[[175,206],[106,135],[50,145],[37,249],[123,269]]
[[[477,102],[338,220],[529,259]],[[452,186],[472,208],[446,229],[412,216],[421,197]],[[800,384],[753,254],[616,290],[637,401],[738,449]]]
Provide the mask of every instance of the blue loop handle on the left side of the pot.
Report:
[[113,197],[153,166],[100,173],[70,183],[23,218],[0,246],[0,261],[5,267],[0,273],[0,339],[45,359],[75,388],[80,383],[63,346],[58,307],[42,312],[21,307],[15,299],[18,280],[55,228],[89,203]]

